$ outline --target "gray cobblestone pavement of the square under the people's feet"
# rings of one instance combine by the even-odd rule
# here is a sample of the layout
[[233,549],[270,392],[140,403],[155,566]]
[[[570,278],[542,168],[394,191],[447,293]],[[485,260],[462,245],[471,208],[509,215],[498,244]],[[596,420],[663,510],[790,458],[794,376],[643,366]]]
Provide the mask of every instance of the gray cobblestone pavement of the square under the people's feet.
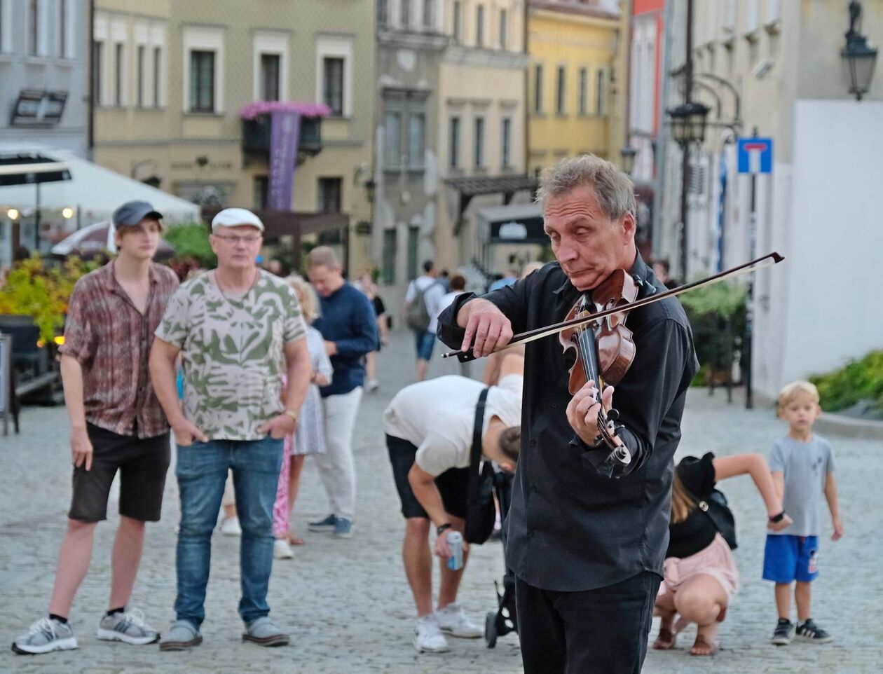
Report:
[[[306,538],[293,560],[275,563],[269,601],[273,615],[292,635],[291,647],[263,649],[240,640],[236,607],[238,539],[217,535],[208,587],[205,641],[192,652],[161,654],[155,646],[132,647],[96,640],[94,630],[109,592],[109,549],[117,516],[112,496],[109,522],[98,527],[94,560],[72,613],[79,650],[40,656],[0,654],[0,672],[104,674],[105,672],[519,672],[517,636],[490,650],[483,640],[450,640],[445,656],[417,655],[411,647],[414,615],[399,556],[403,523],[398,513],[380,416],[392,394],[411,381],[411,339],[394,335],[381,353],[381,390],[363,398],[356,431],[357,528],[350,541],[306,532],[306,520],[324,516],[327,503],[308,460],[294,523]],[[433,362],[431,375],[456,365]],[[473,365],[474,370],[478,367]],[[0,634],[6,643],[46,610],[52,588],[64,513],[70,498],[67,421],[64,409],[27,408],[22,435],[0,437]],[[763,451],[783,432],[768,407],[745,411],[725,402],[723,391],[708,397],[696,390],[688,400],[680,454],[701,456]],[[838,461],[842,541],[823,532],[821,569],[813,617],[834,633],[826,646],[774,647],[773,590],[760,579],[765,512],[747,477],[723,489],[736,511],[736,562],[743,588],[721,625],[721,651],[713,658],[688,654],[695,630],[681,635],[675,652],[651,651],[645,672],[879,672],[883,623],[872,619],[881,597],[883,537],[875,484],[883,457],[879,443],[829,438]],[[879,488],[879,487],[878,487]],[[132,606],[162,629],[172,617],[175,586],[177,488],[169,473],[162,522],[148,527],[147,550]],[[476,620],[495,608],[494,579],[502,578],[502,549],[488,543],[475,552],[465,574],[461,602]],[[655,625],[654,625],[655,631]],[[653,637],[651,637],[652,639]]]

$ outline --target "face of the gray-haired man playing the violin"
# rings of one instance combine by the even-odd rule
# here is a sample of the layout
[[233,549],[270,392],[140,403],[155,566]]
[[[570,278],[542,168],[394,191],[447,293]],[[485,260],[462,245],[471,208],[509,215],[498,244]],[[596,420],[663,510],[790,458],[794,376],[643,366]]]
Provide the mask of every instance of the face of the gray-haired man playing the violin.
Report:
[[578,186],[549,199],[544,217],[552,252],[579,291],[592,290],[634,261],[634,217],[626,214],[612,221],[601,211],[592,187]]

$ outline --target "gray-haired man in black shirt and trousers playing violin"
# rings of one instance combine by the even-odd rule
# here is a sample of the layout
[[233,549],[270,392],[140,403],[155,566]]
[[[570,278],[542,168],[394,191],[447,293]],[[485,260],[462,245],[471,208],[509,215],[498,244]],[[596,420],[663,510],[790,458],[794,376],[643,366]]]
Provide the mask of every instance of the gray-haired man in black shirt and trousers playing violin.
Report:
[[[556,261],[484,297],[457,297],[439,316],[445,344],[472,347],[476,357],[499,351],[513,333],[561,322],[616,269],[632,276],[638,299],[665,290],[638,254],[634,188],[613,164],[593,155],[562,160],[541,179],[538,201]],[[571,397],[560,341],[526,345],[506,557],[527,674],[623,674],[644,662],[668,546],[673,457],[698,362],[677,299],[635,309],[626,325],[634,360],[600,398],[605,411],[618,411],[627,462],[611,460],[613,448],[599,439],[593,378]]]

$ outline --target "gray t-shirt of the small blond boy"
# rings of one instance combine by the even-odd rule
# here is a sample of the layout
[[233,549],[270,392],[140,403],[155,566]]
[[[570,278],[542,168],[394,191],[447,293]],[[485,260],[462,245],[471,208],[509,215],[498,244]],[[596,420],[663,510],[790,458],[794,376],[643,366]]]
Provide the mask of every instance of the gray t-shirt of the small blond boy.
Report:
[[785,473],[782,506],[794,520],[794,524],[777,533],[818,536],[827,473],[834,473],[831,443],[819,435],[813,435],[808,443],[786,435],[773,445],[770,470]]

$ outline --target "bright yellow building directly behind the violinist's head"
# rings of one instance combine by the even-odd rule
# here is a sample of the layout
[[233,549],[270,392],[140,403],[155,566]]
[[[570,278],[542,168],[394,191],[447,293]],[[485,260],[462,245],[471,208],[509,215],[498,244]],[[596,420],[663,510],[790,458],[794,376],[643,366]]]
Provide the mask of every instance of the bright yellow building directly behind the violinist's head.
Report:
[[620,162],[625,144],[628,4],[531,0],[528,170],[586,152]]

